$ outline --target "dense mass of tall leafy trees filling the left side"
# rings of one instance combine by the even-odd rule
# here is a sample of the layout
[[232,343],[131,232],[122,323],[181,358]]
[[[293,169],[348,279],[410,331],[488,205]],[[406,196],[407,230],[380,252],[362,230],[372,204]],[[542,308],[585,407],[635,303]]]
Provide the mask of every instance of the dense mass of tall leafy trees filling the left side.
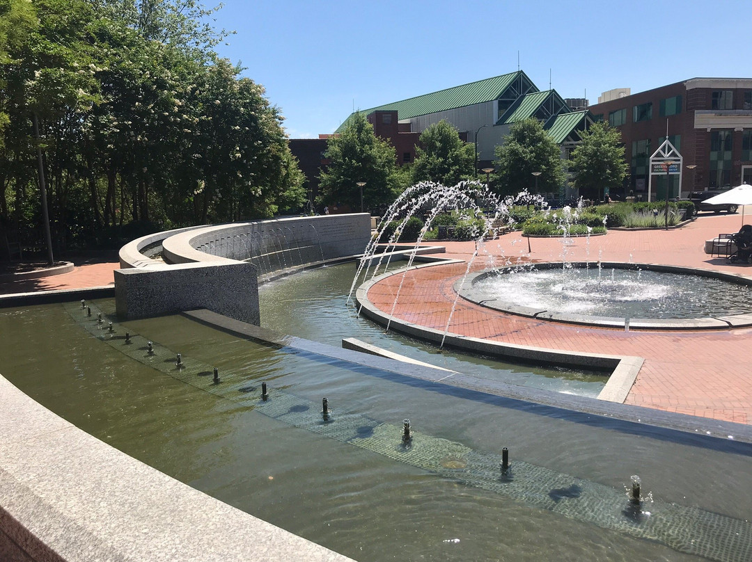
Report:
[[209,14],[194,0],[0,0],[0,250],[41,224],[37,146],[61,247],[117,243],[129,222],[302,207],[284,118],[212,52],[224,32]]

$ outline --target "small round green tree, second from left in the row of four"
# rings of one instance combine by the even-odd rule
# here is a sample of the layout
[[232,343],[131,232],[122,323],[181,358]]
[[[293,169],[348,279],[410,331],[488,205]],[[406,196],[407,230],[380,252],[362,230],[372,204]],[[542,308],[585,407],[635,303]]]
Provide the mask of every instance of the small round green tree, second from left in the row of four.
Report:
[[453,186],[472,177],[475,168],[472,144],[462,142],[457,129],[444,119],[420,134],[413,166],[413,181],[432,181]]

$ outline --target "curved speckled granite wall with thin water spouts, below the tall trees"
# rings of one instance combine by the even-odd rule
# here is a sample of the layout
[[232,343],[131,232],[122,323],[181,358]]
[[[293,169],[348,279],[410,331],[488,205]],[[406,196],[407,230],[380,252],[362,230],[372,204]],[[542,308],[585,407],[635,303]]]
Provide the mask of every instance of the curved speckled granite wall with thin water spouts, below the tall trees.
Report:
[[[371,239],[368,213],[301,216],[167,231],[120,249],[117,314],[147,318],[206,308],[260,325],[259,276],[357,255]],[[144,255],[162,246],[158,261]]]

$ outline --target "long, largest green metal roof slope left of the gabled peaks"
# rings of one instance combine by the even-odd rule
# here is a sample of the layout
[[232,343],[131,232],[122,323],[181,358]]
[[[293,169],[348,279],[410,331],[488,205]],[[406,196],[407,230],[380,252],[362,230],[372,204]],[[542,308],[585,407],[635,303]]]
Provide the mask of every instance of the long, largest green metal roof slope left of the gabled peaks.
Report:
[[[418,95],[414,98],[408,98],[402,101],[395,101],[392,104],[384,104],[371,109],[361,110],[360,113],[368,115],[374,111],[396,111],[397,119],[411,119],[420,115],[437,113],[438,111],[447,111],[456,107],[465,107],[466,105],[481,104],[484,101],[492,101],[504,93],[521,71],[502,74],[501,76],[478,80],[462,86],[442,89],[431,94]],[[335,132],[341,132],[344,128],[345,121],[337,128]]]

